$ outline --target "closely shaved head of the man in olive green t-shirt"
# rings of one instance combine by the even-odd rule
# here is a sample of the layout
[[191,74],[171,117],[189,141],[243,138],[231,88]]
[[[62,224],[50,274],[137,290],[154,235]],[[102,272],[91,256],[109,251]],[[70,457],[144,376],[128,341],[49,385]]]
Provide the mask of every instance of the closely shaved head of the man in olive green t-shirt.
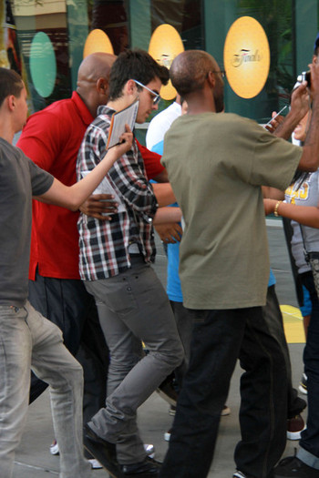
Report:
[[204,86],[210,71],[219,69],[215,59],[207,52],[187,50],[174,58],[170,66],[170,79],[180,96],[186,97]]

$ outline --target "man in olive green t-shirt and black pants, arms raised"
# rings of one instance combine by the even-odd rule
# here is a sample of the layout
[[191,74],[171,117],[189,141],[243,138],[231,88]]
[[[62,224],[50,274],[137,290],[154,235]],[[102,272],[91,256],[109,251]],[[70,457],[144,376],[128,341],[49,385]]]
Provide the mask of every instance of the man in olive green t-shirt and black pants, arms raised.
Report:
[[[313,158],[319,158],[319,140],[313,136],[309,146],[294,147],[249,119],[217,115],[223,110],[221,70],[205,52],[177,56],[170,76],[189,109],[170,127],[162,163],[185,220],[180,281],[194,328],[190,368],[160,476],[209,473],[239,358],[245,371],[242,441],[233,476],[270,478],[285,446],[287,372],[283,351],[262,317],[270,265],[261,187],[284,189],[296,168],[318,168]],[[318,69],[312,80],[315,104]],[[292,111],[278,136],[288,137],[299,117]],[[314,135],[315,122],[310,130]]]

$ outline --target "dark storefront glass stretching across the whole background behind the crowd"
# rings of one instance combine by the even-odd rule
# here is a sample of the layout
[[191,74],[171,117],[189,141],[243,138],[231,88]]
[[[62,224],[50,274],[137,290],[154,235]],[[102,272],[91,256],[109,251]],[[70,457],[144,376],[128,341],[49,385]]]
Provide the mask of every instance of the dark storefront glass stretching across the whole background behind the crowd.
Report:
[[[264,29],[271,51],[269,76],[252,98],[225,85],[226,111],[269,119],[289,101],[296,77],[311,61],[318,30],[318,0],[6,0],[1,3],[0,65],[26,81],[35,111],[69,97],[77,84],[87,35],[98,28],[114,53],[148,50],[156,28],[172,25],[185,49],[205,49],[223,66],[223,47],[235,20],[251,16]],[[160,109],[170,100],[162,101]]]

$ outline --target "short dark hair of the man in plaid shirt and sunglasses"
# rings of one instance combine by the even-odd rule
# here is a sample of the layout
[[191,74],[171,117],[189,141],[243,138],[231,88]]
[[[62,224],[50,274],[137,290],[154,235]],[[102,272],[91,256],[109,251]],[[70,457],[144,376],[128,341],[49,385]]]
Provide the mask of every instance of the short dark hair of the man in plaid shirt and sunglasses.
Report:
[[[163,85],[167,85],[170,72],[166,66],[161,66],[148,52],[135,48],[118,55],[109,76],[108,98],[112,101],[122,96],[123,86],[129,79],[136,79],[143,85],[159,77]],[[137,85],[138,89],[142,89]]]

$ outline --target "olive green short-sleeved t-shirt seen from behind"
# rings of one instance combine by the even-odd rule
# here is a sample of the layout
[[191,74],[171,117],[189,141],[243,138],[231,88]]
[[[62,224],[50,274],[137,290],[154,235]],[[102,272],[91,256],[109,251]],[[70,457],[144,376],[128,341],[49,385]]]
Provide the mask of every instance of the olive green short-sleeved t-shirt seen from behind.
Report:
[[175,120],[165,136],[162,163],[185,220],[180,243],[185,307],[265,304],[270,265],[261,186],[287,188],[302,153],[237,115]]

